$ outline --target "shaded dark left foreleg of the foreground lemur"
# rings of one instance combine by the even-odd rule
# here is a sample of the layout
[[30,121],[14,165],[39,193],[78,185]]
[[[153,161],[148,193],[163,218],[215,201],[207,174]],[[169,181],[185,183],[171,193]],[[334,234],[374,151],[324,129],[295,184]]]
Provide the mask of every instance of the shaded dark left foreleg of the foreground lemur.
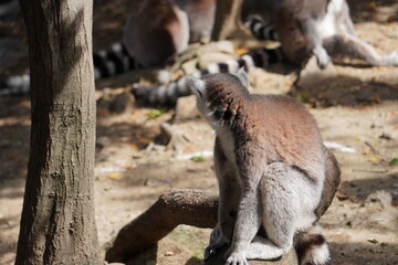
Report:
[[218,137],[214,145],[214,169],[220,191],[218,224],[211,233],[209,246],[205,250],[205,258],[217,248],[231,243],[240,199],[235,167],[227,159]]

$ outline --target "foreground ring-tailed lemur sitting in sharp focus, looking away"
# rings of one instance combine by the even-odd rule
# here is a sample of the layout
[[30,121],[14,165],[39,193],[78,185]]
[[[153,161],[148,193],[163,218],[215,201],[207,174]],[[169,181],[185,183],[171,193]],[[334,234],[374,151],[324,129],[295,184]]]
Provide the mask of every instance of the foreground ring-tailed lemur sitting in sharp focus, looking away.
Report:
[[[244,71],[187,77],[199,112],[216,130],[218,225],[205,258],[226,244],[228,265],[297,250],[300,264],[331,264],[321,215],[341,171],[314,118],[281,95],[252,95]],[[256,235],[265,230],[266,237]]]

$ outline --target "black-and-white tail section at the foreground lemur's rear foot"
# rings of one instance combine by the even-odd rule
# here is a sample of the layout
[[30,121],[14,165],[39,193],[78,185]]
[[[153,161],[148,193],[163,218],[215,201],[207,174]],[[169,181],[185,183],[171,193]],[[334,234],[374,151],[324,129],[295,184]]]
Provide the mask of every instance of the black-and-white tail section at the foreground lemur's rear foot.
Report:
[[332,265],[331,254],[322,235],[322,227],[315,224],[295,237],[295,250],[298,255],[300,265]]

